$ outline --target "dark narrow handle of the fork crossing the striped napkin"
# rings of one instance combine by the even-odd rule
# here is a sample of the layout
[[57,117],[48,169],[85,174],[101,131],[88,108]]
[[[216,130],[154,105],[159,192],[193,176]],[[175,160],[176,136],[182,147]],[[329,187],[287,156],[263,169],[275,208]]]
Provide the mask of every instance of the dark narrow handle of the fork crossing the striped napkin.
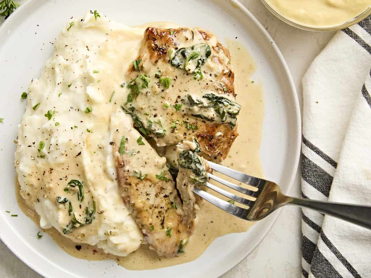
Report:
[[299,205],[371,229],[371,206],[321,202],[288,197],[287,205]]

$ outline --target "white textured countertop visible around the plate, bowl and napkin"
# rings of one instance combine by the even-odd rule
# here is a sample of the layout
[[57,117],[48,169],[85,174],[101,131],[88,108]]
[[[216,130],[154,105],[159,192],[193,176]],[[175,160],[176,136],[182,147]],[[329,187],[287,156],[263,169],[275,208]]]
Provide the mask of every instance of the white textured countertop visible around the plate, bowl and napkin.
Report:
[[[19,1],[23,3],[24,1]],[[302,107],[301,79],[315,56],[334,32],[317,33],[296,29],[271,14],[260,0],[240,0],[273,37],[289,66]],[[0,24],[3,19],[0,19]],[[300,173],[290,192],[300,196]],[[275,212],[278,213],[278,212]],[[223,278],[300,277],[301,276],[301,209],[285,207],[262,243]],[[39,278],[0,241],[0,277]]]

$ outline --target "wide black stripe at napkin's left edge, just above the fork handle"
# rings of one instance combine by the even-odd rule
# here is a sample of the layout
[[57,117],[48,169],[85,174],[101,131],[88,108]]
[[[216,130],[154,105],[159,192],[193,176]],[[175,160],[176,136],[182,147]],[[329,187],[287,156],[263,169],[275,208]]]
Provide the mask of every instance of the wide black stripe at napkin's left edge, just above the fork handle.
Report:
[[326,197],[329,196],[332,176],[302,153],[302,178]]

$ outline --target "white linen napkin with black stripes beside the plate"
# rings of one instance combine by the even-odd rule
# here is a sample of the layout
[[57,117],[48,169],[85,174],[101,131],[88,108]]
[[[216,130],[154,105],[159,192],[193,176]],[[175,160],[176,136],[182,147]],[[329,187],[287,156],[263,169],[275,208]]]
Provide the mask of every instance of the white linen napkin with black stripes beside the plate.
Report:
[[[371,205],[370,45],[371,16],[336,33],[303,77],[303,198]],[[370,266],[370,230],[302,209],[303,277],[371,277]]]

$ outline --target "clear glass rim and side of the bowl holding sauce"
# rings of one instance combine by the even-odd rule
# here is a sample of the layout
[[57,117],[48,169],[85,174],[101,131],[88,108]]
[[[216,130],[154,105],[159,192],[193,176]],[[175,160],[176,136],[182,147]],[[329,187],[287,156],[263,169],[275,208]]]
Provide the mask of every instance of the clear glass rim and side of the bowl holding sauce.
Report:
[[365,17],[367,17],[369,14],[371,14],[371,7],[369,7],[367,10],[359,14],[358,16],[352,18],[351,20],[346,21],[343,24],[336,25],[336,26],[327,26],[327,27],[317,27],[317,26],[310,26],[310,25],[305,25],[299,22],[296,22],[292,19],[289,19],[288,17],[284,16],[283,14],[279,13],[278,11],[275,10],[275,8],[272,7],[270,3],[268,3],[266,0],[262,0],[263,4],[267,7],[267,9],[273,13],[276,17],[278,17],[280,20],[286,22],[287,24],[290,24],[291,26],[294,26],[299,29],[303,30],[308,30],[308,31],[335,31],[335,30],[340,30],[344,29],[346,27],[349,27],[353,24],[358,23]]

